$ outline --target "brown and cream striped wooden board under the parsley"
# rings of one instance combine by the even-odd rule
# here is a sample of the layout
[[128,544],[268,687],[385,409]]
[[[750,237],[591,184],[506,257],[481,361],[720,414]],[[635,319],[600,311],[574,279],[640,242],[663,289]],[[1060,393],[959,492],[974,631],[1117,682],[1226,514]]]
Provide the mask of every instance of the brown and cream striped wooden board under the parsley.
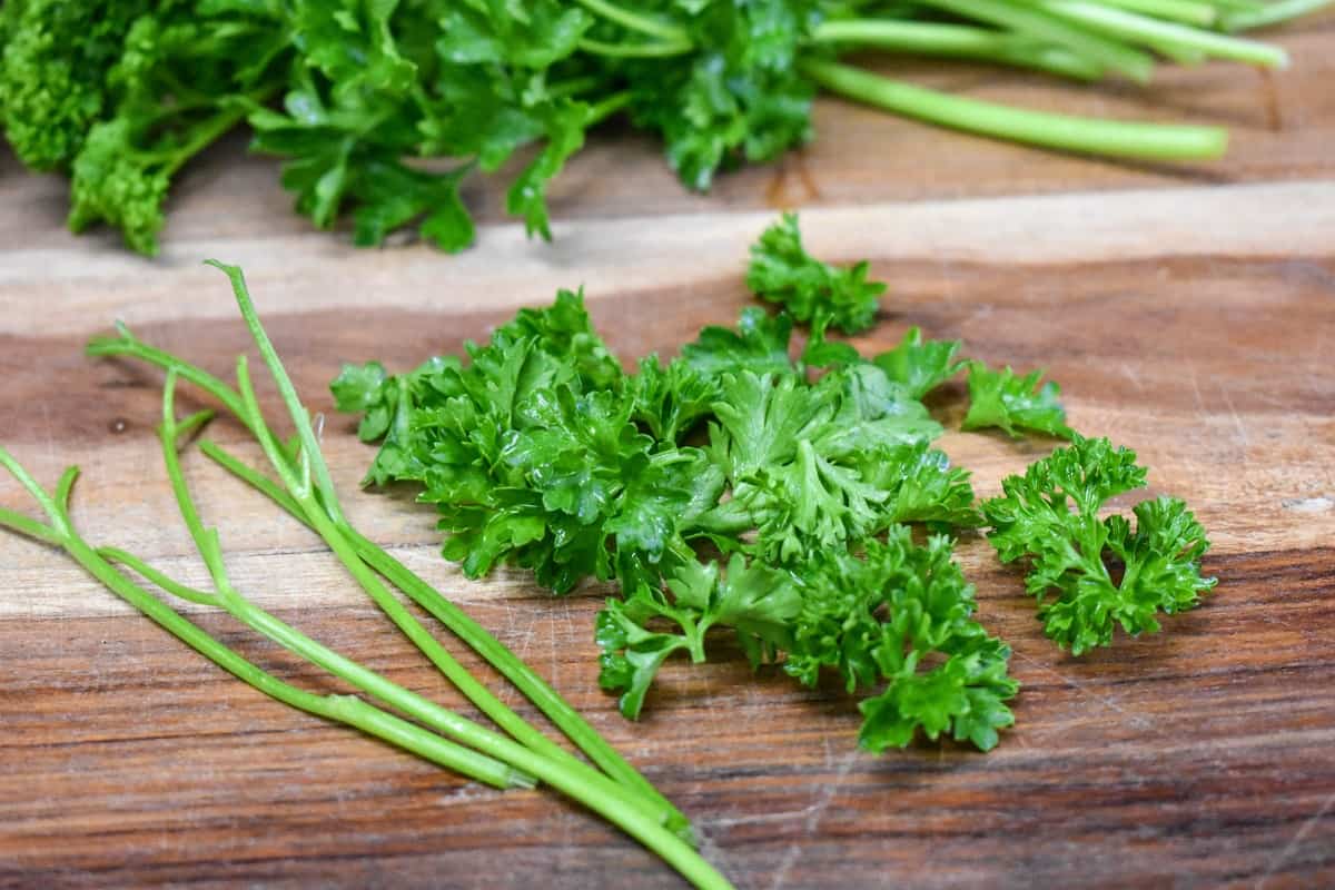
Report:
[[[906,65],[972,95],[1124,116],[1222,120],[1208,167],[1128,167],[943,133],[821,101],[820,137],[686,195],[651,143],[593,141],[555,189],[554,244],[470,200],[461,256],[356,251],[288,212],[276,164],[232,140],[183,177],[163,256],[61,228],[64,184],[0,159],[0,440],[75,516],[203,583],[152,435],[159,375],[84,359],[112,319],[226,374],[247,348],[226,282],[242,263],[303,396],[330,412],[342,360],[406,368],[482,339],[517,306],[583,283],[626,359],[673,352],[748,303],[745,247],[777,207],[809,246],[892,282],[858,340],[909,324],[969,355],[1047,367],[1075,427],[1136,448],[1151,492],[1185,498],[1220,579],[1165,632],[1072,659],[1016,572],[969,538],[988,627],[1015,648],[1017,725],[981,755],[856,750],[838,690],[741,656],[661,673],[638,725],[597,690],[605,591],[551,599],[522,574],[473,583],[438,556],[429,508],[358,492],[371,452],[330,416],[326,452],[354,522],[583,710],[696,821],[744,889],[1335,885],[1335,17],[1280,41],[1272,77],[1171,72],[1151,100],[984,68]],[[964,394],[936,403],[956,426]],[[186,399],[194,407],[194,398]],[[272,398],[267,402],[276,408]],[[212,431],[250,455],[242,430]],[[1043,443],[952,432],[981,495]],[[443,702],[457,695],[304,530],[187,458],[238,583],[311,635]],[[1129,504],[1123,499],[1120,506]],[[28,508],[0,479],[0,504]],[[230,620],[206,627],[275,673],[336,689]],[[467,660],[467,659],[466,659]],[[471,662],[469,662],[471,663]],[[511,693],[507,701],[514,701]],[[522,710],[522,709],[521,709]],[[545,793],[494,793],[242,686],[52,550],[0,535],[0,886],[672,887],[617,831]]]

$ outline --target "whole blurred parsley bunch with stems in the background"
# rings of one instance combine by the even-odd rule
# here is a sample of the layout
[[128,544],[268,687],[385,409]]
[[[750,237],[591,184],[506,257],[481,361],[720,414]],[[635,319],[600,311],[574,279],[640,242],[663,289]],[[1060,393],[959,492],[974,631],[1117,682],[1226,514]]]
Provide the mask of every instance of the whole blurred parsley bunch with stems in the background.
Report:
[[[550,238],[546,191],[621,115],[688,188],[812,139],[828,89],[897,115],[1065,151],[1223,152],[1212,127],[1032,112],[840,64],[854,51],[1149,83],[1155,59],[1282,65],[1224,32],[1327,0],[8,0],[0,115],[19,159],[72,179],[69,224],[158,250],[172,177],[243,121],[319,228],[473,240],[459,183],[511,176],[506,209]],[[518,164],[507,164],[514,157]],[[422,163],[427,159],[434,159]],[[517,171],[517,172],[515,172]]]

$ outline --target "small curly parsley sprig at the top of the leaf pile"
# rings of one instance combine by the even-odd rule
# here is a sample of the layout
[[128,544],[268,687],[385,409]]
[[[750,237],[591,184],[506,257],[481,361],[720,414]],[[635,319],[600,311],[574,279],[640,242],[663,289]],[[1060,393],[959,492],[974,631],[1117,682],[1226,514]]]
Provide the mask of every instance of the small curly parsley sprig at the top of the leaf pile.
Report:
[[802,247],[797,213],[784,213],[750,250],[746,287],[756,296],[778,303],[797,322],[816,319],[845,334],[858,334],[876,320],[882,282],[868,282],[868,264],[838,268],[821,263]]

